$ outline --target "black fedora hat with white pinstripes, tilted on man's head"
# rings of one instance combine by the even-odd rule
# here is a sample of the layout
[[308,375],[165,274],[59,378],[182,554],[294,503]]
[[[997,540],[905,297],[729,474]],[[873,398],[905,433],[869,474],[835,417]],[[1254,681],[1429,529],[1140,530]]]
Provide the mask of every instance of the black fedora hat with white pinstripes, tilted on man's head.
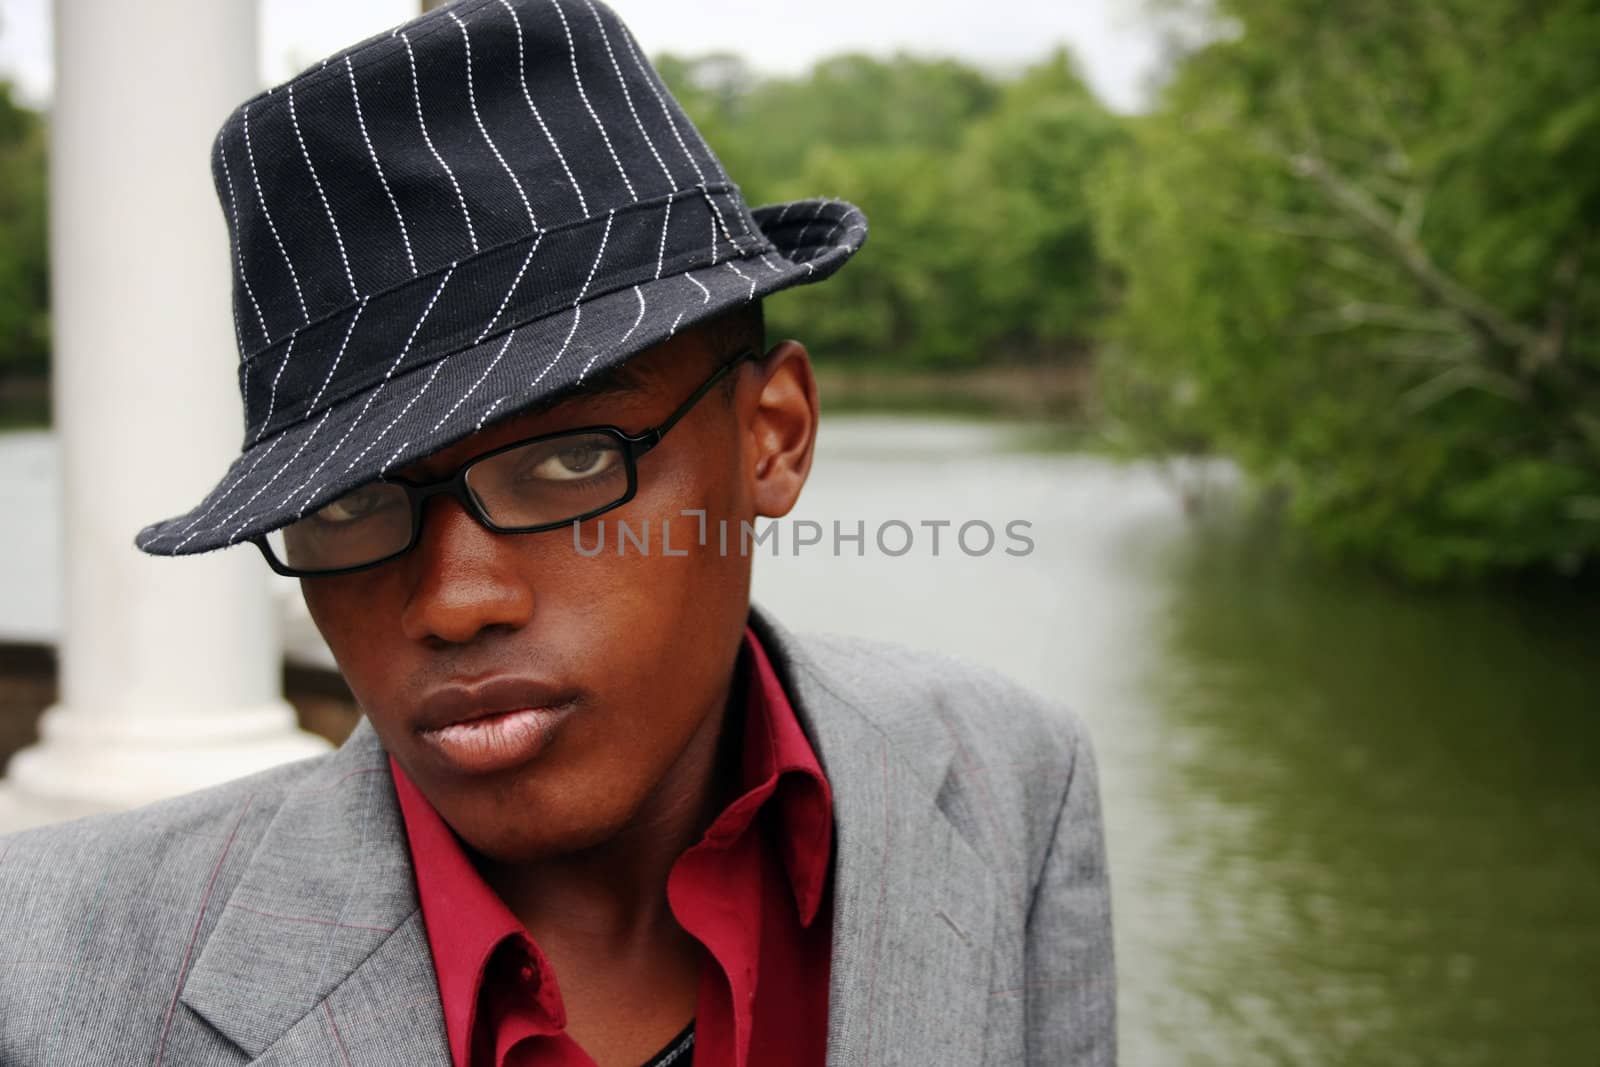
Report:
[[675,333],[834,274],[840,200],[750,211],[594,0],[456,0],[240,106],[213,150],[243,453],[157,555],[285,526]]

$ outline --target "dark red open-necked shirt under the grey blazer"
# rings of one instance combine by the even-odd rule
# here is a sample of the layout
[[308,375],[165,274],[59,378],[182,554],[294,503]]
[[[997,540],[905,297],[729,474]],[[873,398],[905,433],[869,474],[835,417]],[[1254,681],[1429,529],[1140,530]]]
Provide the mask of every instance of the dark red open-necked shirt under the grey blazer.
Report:
[[[741,795],[667,878],[702,947],[696,1067],[821,1067],[827,1046],[832,793],[771,661],[744,632]],[[544,953],[390,757],[454,1067],[594,1067],[565,1033]]]

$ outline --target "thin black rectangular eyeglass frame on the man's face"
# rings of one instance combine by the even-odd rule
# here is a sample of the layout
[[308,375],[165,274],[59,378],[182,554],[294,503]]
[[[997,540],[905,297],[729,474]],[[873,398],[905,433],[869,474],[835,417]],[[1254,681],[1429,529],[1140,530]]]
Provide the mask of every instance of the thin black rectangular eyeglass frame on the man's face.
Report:
[[[715,389],[717,382],[726,378],[728,373],[731,373],[736,366],[739,366],[746,360],[757,358],[757,355],[758,354],[755,352],[755,349],[746,349],[738,355],[734,355],[733,358],[723,362],[722,366],[718,366],[710,378],[701,382],[699,389],[691,392],[688,398],[683,403],[680,403],[677,410],[672,411],[672,414],[669,414],[659,424],[646,430],[642,430],[638,434],[629,434],[627,430],[618,426],[581,426],[570,430],[557,430],[554,434],[539,434],[536,437],[525,437],[522,440],[510,442],[498,448],[491,448],[486,453],[478,453],[477,456],[472,456],[470,459],[464,461],[450,475],[440,478],[438,482],[411,482],[410,478],[378,478],[376,483],[397,485],[402,490],[405,490],[406,499],[411,506],[410,539],[406,539],[403,549],[397,549],[395,552],[390,552],[389,555],[379,560],[373,560],[370,563],[358,563],[355,566],[341,566],[328,571],[307,571],[290,566],[288,563],[278,560],[277,553],[272,550],[272,545],[267,544],[267,534],[256,534],[254,537],[251,537],[251,542],[258,549],[261,549],[261,555],[266,557],[267,566],[270,566],[274,571],[277,571],[285,577],[333,577],[338,574],[355,574],[358,571],[370,571],[374,566],[382,566],[384,563],[397,560],[411,549],[414,549],[416,542],[422,536],[422,510],[427,507],[427,502],[435,496],[456,498],[461,507],[469,515],[472,515],[472,518],[477,520],[480,526],[483,526],[491,533],[499,533],[499,534],[544,533],[549,530],[560,530],[562,526],[570,526],[573,523],[581,523],[595,518],[597,515],[605,515],[610,510],[622,507],[624,504],[632,501],[634,496],[638,493],[638,459],[646,453],[650,453],[656,445],[659,445],[661,438],[667,435],[667,430],[677,426],[678,421],[683,419],[683,416],[686,416],[694,408],[694,405],[704,400],[706,394]],[[622,466],[627,470],[627,491],[619,499],[603,507],[595,507],[584,512],[582,515],[574,515],[571,518],[563,518],[554,523],[539,523],[536,526],[499,526],[494,523],[494,520],[488,517],[488,514],[478,504],[477,498],[472,496],[472,490],[467,486],[467,472],[474,466],[483,462],[485,459],[491,459],[494,456],[499,456],[501,453],[509,453],[512,450],[525,448],[528,445],[536,445],[539,442],[550,442],[563,437],[579,437],[579,435],[595,435],[595,434],[611,437],[622,446]]]

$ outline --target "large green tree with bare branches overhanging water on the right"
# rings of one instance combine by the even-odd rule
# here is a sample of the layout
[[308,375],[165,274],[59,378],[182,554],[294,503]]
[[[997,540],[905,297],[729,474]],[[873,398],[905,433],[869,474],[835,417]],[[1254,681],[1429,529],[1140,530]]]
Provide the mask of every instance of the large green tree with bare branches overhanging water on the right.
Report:
[[1216,13],[1093,179],[1122,443],[1408,577],[1594,573],[1600,5]]

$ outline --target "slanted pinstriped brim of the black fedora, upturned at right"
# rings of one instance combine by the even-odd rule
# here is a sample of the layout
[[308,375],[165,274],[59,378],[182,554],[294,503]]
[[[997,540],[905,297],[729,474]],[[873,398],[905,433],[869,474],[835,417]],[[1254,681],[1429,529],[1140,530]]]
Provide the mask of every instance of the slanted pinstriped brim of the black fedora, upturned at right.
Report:
[[347,397],[251,443],[197,507],[146,526],[136,544],[152,555],[194,555],[286,526],[683,330],[821,282],[867,235],[866,216],[842,200],[773,205],[754,218],[774,251],[598,293]]

